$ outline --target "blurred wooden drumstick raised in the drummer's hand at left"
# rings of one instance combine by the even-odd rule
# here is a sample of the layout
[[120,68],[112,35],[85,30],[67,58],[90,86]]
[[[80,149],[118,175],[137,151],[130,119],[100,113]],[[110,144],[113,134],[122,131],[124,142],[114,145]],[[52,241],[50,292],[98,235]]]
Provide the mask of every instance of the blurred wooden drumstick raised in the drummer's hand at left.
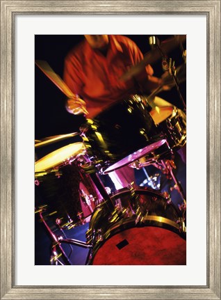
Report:
[[[38,65],[38,68],[42,70],[42,72],[65,94],[65,96],[68,98],[76,97],[76,94],[72,93],[72,90],[70,90],[67,84],[65,84],[65,81],[63,81],[63,79],[54,72],[47,61],[35,61],[35,64]],[[85,107],[81,106],[81,109],[85,114],[88,114]]]

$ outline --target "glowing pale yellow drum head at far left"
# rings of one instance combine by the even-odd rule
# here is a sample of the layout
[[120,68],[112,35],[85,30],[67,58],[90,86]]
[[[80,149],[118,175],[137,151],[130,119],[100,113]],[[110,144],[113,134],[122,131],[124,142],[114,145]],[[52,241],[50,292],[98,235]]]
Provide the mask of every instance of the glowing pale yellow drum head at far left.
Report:
[[85,148],[83,143],[79,142],[66,145],[65,147],[55,150],[54,152],[51,152],[36,161],[35,173],[47,171],[51,168],[59,166],[60,164],[65,163],[65,161],[74,159],[77,155],[83,154],[84,152]]

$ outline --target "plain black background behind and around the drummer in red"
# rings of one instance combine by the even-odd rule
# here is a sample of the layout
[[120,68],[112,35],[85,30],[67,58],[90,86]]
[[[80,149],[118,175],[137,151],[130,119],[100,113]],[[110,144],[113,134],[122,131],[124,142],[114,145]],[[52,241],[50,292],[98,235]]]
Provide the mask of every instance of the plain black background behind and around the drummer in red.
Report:
[[[131,38],[143,54],[150,51],[149,35],[126,35]],[[159,40],[167,40],[173,35],[156,35]],[[83,39],[83,35],[35,35],[35,59],[47,61],[51,68],[63,78],[65,56],[72,47]],[[185,45],[183,45],[184,49]],[[168,54],[178,67],[183,64],[179,47]],[[154,75],[163,74],[161,59],[154,65]],[[181,95],[186,101],[186,82],[180,85]],[[176,88],[158,94],[159,97],[183,109]],[[74,116],[65,110],[66,96],[35,65],[35,139],[42,139],[58,134],[79,132],[84,122],[83,116]]]

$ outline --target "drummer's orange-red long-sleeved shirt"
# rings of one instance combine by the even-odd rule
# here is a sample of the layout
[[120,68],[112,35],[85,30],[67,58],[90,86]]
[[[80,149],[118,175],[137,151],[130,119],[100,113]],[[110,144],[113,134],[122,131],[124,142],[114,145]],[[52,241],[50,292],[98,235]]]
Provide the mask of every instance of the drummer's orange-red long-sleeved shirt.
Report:
[[132,65],[142,61],[143,55],[136,44],[122,35],[108,35],[109,45],[106,56],[92,49],[86,40],[72,49],[65,58],[64,81],[87,104],[88,118],[92,118],[105,106],[139,93],[138,84],[147,80],[146,70],[136,79],[120,81],[122,74]]

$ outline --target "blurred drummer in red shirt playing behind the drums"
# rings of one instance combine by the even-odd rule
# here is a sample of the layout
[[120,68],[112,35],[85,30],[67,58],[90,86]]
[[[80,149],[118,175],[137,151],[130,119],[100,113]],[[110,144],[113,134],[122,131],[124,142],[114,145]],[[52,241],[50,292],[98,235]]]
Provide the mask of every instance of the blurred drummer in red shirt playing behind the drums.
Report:
[[[106,107],[126,99],[129,95],[149,94],[163,79],[154,77],[154,70],[147,65],[133,79],[120,80],[120,77],[133,65],[142,61],[143,55],[138,46],[122,35],[85,35],[82,42],[72,49],[65,58],[63,79],[75,94],[67,100],[69,113],[83,113],[86,118],[95,118]],[[170,89],[164,86],[165,90]],[[172,106],[156,97],[154,106]],[[114,118],[114,116],[113,116]],[[127,187],[134,178],[133,169],[121,168],[109,173],[116,189]]]

